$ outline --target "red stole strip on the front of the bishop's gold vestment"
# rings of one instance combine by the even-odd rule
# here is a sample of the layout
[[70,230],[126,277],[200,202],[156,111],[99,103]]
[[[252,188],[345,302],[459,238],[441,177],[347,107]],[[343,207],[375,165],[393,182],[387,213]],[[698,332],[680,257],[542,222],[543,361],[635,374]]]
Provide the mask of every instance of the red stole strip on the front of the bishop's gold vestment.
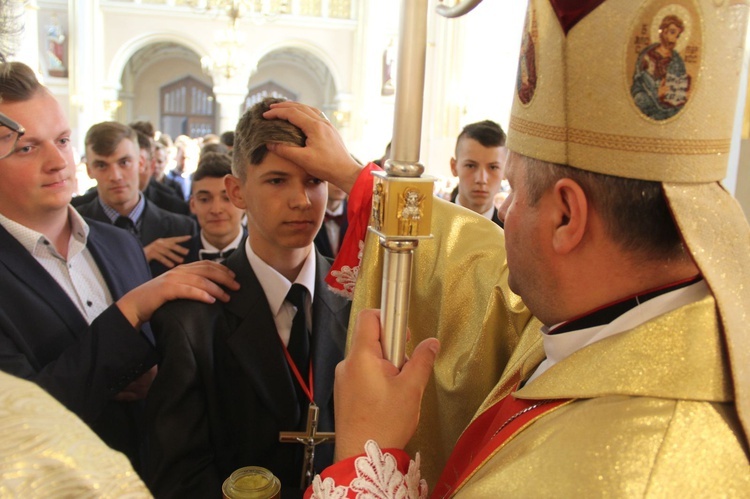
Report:
[[508,440],[537,418],[569,402],[523,400],[506,395],[484,411],[464,430],[431,497],[448,497],[468,480]]

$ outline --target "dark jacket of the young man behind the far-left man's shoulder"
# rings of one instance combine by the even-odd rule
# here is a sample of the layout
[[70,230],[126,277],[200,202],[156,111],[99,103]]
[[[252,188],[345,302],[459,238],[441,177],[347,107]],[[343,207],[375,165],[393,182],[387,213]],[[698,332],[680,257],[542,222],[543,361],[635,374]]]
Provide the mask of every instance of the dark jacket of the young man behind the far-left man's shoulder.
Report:
[[[76,210],[84,217],[108,224],[112,223],[107,214],[104,213],[104,208],[102,208],[98,198],[77,206]],[[177,213],[162,210],[146,199],[146,206],[143,209],[143,215],[141,215],[141,232],[139,235],[143,246],[148,246],[157,239],[164,237],[194,236],[197,233],[198,225],[195,223],[195,220],[185,215],[178,215]],[[141,252],[143,252],[142,249]],[[151,268],[151,275],[154,277],[169,270],[156,260],[150,262],[149,267]]]

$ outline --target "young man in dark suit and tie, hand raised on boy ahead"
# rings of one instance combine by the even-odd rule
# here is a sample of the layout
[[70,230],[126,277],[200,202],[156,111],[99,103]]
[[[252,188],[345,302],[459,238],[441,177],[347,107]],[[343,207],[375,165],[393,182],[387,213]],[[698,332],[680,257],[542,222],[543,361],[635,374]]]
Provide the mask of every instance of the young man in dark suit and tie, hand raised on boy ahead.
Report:
[[85,142],[86,170],[99,195],[76,209],[136,236],[154,277],[182,263],[188,251],[180,243],[196,235],[198,227],[190,217],[162,210],[141,194],[138,173],[145,164],[136,131],[107,121],[92,126]]

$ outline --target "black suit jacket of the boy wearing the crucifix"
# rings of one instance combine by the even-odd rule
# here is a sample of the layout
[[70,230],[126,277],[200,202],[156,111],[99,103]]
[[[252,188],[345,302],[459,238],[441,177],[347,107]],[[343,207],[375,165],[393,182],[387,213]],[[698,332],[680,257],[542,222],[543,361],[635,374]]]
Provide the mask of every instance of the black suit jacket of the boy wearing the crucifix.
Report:
[[[224,263],[240,283],[229,303],[176,301],[151,320],[162,360],[146,404],[153,459],[146,480],[158,498],[218,498],[235,469],[262,466],[281,480],[283,497],[301,497],[302,446],[279,443],[280,431],[302,430],[306,420],[293,374],[245,245]],[[350,303],[326,287],[330,264],[319,253],[316,263],[314,397],[319,431],[331,431]],[[332,458],[332,445],[318,446],[316,470]]]

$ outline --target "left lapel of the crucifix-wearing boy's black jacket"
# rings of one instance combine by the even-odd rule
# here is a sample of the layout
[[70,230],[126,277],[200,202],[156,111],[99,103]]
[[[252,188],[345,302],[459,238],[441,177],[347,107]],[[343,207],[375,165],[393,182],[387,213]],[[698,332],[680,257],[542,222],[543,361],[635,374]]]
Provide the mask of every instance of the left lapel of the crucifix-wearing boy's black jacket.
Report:
[[[231,293],[226,311],[236,317],[237,327],[228,332],[227,348],[237,359],[263,404],[282,426],[294,428],[299,403],[287,360],[281,348],[268,300],[247,260],[245,245],[226,260],[236,274],[240,289]],[[230,321],[230,324],[234,321]],[[237,382],[238,380],[234,380]]]

